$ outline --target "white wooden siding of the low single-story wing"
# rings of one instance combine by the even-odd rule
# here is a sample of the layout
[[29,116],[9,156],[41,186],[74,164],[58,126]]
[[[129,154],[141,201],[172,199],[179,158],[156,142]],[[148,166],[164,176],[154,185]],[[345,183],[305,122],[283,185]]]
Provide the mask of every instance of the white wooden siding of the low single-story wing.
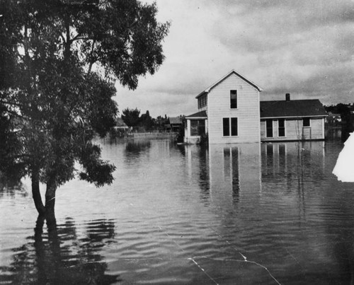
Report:
[[273,120],[273,137],[266,137],[265,120],[261,120],[261,141],[294,141],[302,139],[324,139],[324,118],[312,118],[303,136],[302,118],[285,120],[285,136],[278,136],[278,120]]

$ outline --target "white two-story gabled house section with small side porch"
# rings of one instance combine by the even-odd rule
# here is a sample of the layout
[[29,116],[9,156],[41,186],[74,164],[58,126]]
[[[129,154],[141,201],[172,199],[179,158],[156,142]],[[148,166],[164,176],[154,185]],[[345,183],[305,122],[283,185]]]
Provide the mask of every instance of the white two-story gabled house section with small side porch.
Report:
[[195,144],[203,136],[209,144],[261,141],[261,91],[245,76],[230,71],[196,97],[198,112],[185,117],[185,143]]

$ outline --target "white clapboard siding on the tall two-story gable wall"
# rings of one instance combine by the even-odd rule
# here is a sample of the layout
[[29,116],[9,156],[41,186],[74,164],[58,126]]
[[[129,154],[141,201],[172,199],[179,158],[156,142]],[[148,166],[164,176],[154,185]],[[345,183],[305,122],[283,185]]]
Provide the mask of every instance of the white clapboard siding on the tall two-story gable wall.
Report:
[[[230,90],[237,90],[237,109],[230,108]],[[212,88],[207,96],[210,144],[231,144],[260,141],[259,91],[232,74]],[[224,137],[222,118],[237,117],[238,136]]]

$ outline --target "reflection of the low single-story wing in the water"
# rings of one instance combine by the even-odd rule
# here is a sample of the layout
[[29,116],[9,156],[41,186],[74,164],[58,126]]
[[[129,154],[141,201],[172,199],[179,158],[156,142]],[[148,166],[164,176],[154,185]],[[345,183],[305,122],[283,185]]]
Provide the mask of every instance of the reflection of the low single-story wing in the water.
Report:
[[276,191],[279,207],[294,209],[299,221],[306,221],[306,199],[324,180],[324,141],[262,144],[261,153],[265,202]]

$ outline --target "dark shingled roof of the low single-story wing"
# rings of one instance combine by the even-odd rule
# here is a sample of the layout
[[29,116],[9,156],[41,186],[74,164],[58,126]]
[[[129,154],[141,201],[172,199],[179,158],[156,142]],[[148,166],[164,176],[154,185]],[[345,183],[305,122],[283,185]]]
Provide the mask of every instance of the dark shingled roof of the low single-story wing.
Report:
[[261,119],[273,117],[316,117],[327,112],[318,99],[261,101]]

